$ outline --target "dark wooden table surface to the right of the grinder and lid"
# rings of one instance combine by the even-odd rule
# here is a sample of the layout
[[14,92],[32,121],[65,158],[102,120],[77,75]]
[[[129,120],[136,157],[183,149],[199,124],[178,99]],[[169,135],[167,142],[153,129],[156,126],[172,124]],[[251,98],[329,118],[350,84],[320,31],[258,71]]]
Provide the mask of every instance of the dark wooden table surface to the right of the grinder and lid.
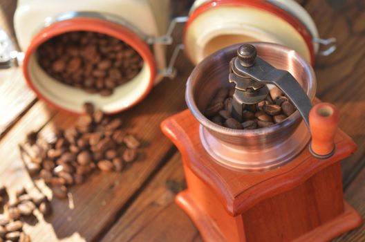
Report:
[[306,10],[321,37],[336,37],[337,50],[318,57],[315,65],[317,96],[339,108],[339,128],[358,145],[342,164],[345,187],[365,165],[365,8],[364,1],[314,1]]

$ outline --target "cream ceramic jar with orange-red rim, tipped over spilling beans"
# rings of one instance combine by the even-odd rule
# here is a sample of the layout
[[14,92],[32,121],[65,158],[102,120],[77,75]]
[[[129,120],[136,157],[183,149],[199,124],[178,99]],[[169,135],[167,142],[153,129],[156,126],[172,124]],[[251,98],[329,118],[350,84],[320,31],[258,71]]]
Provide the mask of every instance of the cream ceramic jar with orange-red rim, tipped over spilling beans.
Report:
[[[59,109],[80,113],[84,102],[93,102],[106,113],[128,109],[162,79],[165,46],[155,39],[165,34],[169,17],[169,0],[19,0],[14,24],[19,46],[25,52],[26,81],[41,99]],[[82,30],[129,44],[144,60],[140,73],[108,97],[86,93],[47,75],[37,62],[37,48],[52,37]]]

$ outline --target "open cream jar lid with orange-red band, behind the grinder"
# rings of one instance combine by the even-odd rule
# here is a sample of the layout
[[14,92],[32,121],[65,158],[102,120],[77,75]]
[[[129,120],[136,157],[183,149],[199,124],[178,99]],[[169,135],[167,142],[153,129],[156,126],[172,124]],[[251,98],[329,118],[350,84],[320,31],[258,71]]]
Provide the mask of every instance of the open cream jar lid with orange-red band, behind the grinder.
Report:
[[[212,12],[210,16],[209,12]],[[205,28],[209,21],[204,18],[212,19],[212,26]],[[215,50],[243,42],[239,38],[230,39],[230,33],[247,35],[250,37],[247,41],[265,41],[288,46],[297,50],[311,64],[314,64],[315,54],[319,49],[318,44],[312,41],[318,37],[315,23],[308,12],[295,1],[197,0],[191,7],[185,26],[187,55],[192,62],[197,63]],[[201,50],[218,35],[223,35],[218,41],[227,43],[221,46],[214,44],[210,49]],[[189,39],[191,36],[194,37]],[[191,47],[194,43],[196,48]]]

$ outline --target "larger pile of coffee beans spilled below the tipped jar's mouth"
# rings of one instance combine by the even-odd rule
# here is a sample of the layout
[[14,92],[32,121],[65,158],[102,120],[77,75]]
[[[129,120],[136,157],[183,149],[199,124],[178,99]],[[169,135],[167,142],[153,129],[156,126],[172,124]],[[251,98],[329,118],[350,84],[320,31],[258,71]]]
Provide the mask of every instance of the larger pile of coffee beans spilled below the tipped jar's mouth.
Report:
[[[97,169],[122,171],[140,152],[140,140],[123,127],[120,118],[94,111],[89,103],[84,105],[84,111],[87,114],[78,118],[75,127],[46,137],[28,135],[28,153],[32,157],[28,171],[37,164],[33,176],[43,179],[57,198],[67,198],[68,187],[84,183]],[[41,210],[46,213],[48,209],[44,206]]]

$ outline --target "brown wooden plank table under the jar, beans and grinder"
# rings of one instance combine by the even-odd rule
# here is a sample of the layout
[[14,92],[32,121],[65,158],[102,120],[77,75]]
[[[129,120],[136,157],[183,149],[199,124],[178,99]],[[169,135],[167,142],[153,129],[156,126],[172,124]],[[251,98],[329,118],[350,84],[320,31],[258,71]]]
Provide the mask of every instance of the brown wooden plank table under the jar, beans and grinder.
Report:
[[[317,96],[339,108],[341,129],[359,146],[342,162],[342,173],[346,199],[365,215],[365,1],[299,2],[314,18],[321,37],[337,38],[337,51],[317,58]],[[0,3],[0,25],[14,37],[15,1]],[[68,201],[53,198],[53,215],[45,220],[36,214],[37,221],[25,226],[33,241],[202,240],[174,203],[176,193],[185,187],[180,154],[160,131],[162,120],[186,108],[185,82],[193,66],[182,55],[177,66],[178,77],[163,80],[142,103],[120,114],[147,145],[144,160],[122,173],[97,172],[71,188],[73,210]],[[0,180],[10,189],[30,183],[18,149],[25,134],[69,127],[76,118],[37,100],[19,69],[0,72],[0,117]],[[365,227],[335,241],[365,241]]]

